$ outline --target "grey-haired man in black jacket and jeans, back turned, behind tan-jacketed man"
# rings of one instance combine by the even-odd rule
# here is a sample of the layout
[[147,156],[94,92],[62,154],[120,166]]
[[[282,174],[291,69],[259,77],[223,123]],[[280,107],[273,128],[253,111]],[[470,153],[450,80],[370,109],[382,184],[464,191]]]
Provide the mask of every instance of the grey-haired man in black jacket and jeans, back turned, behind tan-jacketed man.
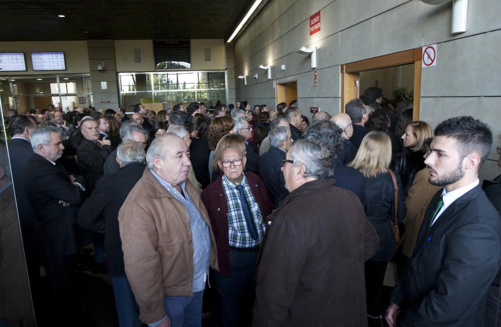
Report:
[[120,325],[142,326],[138,306],[125,275],[118,212],[130,190],[143,176],[146,168],[144,156],[144,149],[140,143],[125,140],[120,144],[117,147],[120,169],[97,182],[96,189],[84,202],[78,216],[78,222],[83,228],[94,232],[105,231],[108,274],[113,283]]

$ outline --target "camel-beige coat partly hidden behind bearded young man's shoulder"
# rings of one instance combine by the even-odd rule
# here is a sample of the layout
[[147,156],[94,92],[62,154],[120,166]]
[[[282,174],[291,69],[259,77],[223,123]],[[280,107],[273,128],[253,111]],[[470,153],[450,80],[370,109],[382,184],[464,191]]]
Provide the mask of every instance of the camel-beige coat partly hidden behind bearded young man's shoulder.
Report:
[[417,172],[405,198],[407,214],[403,221],[405,225],[405,240],[402,244],[402,253],[409,258],[412,256],[412,252],[414,252],[417,235],[419,234],[419,228],[423,222],[426,208],[431,198],[441,189],[428,182],[429,176],[427,168]]

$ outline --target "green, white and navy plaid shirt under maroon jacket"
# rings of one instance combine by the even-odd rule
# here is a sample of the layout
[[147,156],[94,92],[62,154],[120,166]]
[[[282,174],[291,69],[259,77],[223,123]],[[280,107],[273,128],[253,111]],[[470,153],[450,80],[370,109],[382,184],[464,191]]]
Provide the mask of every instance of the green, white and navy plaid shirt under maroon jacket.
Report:
[[[243,174],[242,174],[243,175]],[[228,202],[228,240],[229,246],[238,248],[250,248],[260,246],[265,235],[265,223],[259,209],[259,204],[256,202],[250,186],[243,175],[241,185],[243,186],[243,194],[250,208],[250,213],[256,223],[258,229],[258,239],[253,240],[247,230],[245,217],[243,216],[242,206],[240,204],[240,193],[236,189],[236,184],[230,182],[226,176],[222,177],[222,188]]]

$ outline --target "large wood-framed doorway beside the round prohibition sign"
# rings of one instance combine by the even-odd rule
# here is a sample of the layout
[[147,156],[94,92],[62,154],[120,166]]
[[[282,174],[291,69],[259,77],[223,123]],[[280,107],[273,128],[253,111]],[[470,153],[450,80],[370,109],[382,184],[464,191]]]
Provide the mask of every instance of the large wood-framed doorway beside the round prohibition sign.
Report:
[[[419,119],[421,97],[421,48],[341,65],[341,104],[360,97],[369,86],[383,88],[383,95],[395,98],[395,92],[412,96],[412,118]],[[398,89],[397,89],[398,88]],[[411,95],[412,91],[412,95]]]

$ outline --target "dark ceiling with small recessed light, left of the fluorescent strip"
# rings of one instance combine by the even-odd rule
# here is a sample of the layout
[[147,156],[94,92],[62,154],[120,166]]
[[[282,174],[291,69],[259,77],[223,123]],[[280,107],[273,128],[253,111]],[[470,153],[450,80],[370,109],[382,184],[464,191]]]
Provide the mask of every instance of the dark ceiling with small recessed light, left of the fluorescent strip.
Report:
[[227,39],[253,3],[0,0],[0,41]]

